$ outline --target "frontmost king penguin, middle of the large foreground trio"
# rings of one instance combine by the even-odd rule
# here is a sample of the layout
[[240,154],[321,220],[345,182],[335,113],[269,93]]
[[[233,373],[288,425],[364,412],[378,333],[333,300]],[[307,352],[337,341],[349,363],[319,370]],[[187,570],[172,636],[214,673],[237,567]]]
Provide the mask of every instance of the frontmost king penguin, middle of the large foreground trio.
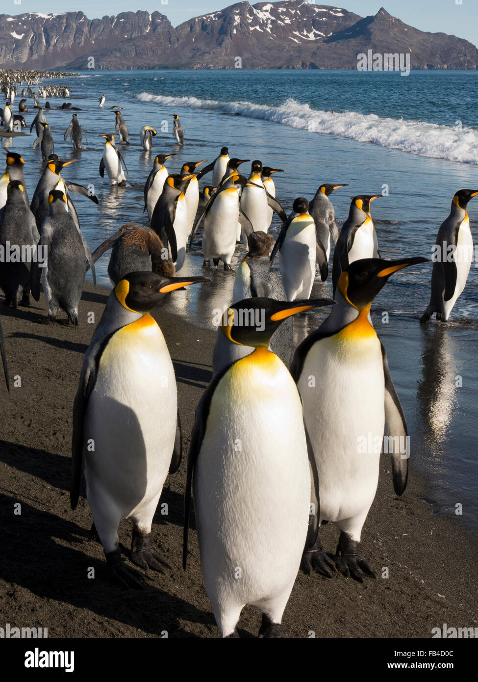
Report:
[[246,604],[263,614],[260,637],[283,636],[308,539],[310,463],[297,387],[268,346],[283,320],[331,303],[245,299],[228,309],[218,331],[252,352],[215,375],[196,409],[183,566],[193,484],[203,580],[221,637],[239,636]]

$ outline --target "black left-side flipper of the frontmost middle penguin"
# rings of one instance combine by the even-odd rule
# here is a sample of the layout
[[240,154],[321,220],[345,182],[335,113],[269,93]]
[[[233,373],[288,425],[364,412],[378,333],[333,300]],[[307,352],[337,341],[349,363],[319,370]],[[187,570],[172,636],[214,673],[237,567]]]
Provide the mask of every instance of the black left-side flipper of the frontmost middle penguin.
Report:
[[191,441],[188,450],[188,470],[186,472],[186,489],[184,492],[184,526],[183,526],[183,569],[186,567],[188,561],[188,535],[189,535],[189,520],[191,513],[192,501],[192,476],[194,473],[194,466],[198,460],[201,445],[203,445],[204,436],[206,433],[207,417],[209,417],[209,408],[213,398],[214,391],[221,381],[222,377],[230,369],[232,365],[227,365],[218,374],[215,374],[211,379],[211,383],[201,396],[196,413],[194,415],[194,426],[191,433]]

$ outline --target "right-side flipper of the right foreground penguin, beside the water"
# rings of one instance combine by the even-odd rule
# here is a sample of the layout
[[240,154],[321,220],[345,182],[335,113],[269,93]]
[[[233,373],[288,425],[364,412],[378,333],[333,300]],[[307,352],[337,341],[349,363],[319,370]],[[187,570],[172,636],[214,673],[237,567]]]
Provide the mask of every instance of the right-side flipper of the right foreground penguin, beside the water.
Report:
[[381,341],[380,346],[382,348],[383,374],[385,376],[385,434],[389,436],[393,490],[395,490],[396,494],[401,495],[406,488],[408,479],[409,452],[407,444],[406,452],[402,453],[400,451],[402,448],[400,445],[397,446],[395,439],[398,437],[399,444],[407,443],[406,436],[408,432],[404,411],[391,380],[387,351],[385,351],[385,346]]

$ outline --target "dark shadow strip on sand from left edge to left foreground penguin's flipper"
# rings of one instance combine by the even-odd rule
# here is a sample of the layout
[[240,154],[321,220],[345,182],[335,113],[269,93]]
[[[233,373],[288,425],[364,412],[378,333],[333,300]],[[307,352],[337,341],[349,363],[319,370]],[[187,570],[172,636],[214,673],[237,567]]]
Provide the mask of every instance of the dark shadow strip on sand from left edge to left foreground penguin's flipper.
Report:
[[52,452],[9,441],[0,441],[0,462],[45,481],[59,490],[70,490],[71,460]]

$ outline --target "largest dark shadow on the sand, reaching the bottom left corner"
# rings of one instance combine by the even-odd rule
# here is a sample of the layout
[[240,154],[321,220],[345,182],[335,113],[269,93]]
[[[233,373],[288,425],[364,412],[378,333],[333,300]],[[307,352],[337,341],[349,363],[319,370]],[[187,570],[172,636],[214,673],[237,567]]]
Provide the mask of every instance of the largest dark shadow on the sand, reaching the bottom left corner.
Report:
[[[85,554],[75,545],[78,526],[72,522],[21,502],[21,514],[12,513],[18,499],[0,493],[0,578],[22,587],[42,599],[87,609],[97,616],[119,621],[134,629],[160,636],[165,630],[172,637],[195,637],[181,624],[202,623],[208,629],[214,625],[213,615],[186,602],[166,590],[148,584],[143,590],[123,590],[110,582],[106,574],[101,546],[91,544],[94,556]],[[91,569],[94,569],[94,579]],[[163,580],[166,576],[158,574]],[[170,589],[170,585],[166,589]],[[23,595],[14,589],[3,598],[5,617],[15,619],[23,608]],[[33,607],[32,607],[33,608]],[[76,623],[76,636],[91,636],[88,618]],[[41,618],[48,634],[55,636],[58,606],[44,602]],[[188,627],[188,625],[186,625]],[[62,626],[63,629],[63,626]],[[68,636],[68,635],[67,635]],[[128,634],[126,634],[128,636]]]

